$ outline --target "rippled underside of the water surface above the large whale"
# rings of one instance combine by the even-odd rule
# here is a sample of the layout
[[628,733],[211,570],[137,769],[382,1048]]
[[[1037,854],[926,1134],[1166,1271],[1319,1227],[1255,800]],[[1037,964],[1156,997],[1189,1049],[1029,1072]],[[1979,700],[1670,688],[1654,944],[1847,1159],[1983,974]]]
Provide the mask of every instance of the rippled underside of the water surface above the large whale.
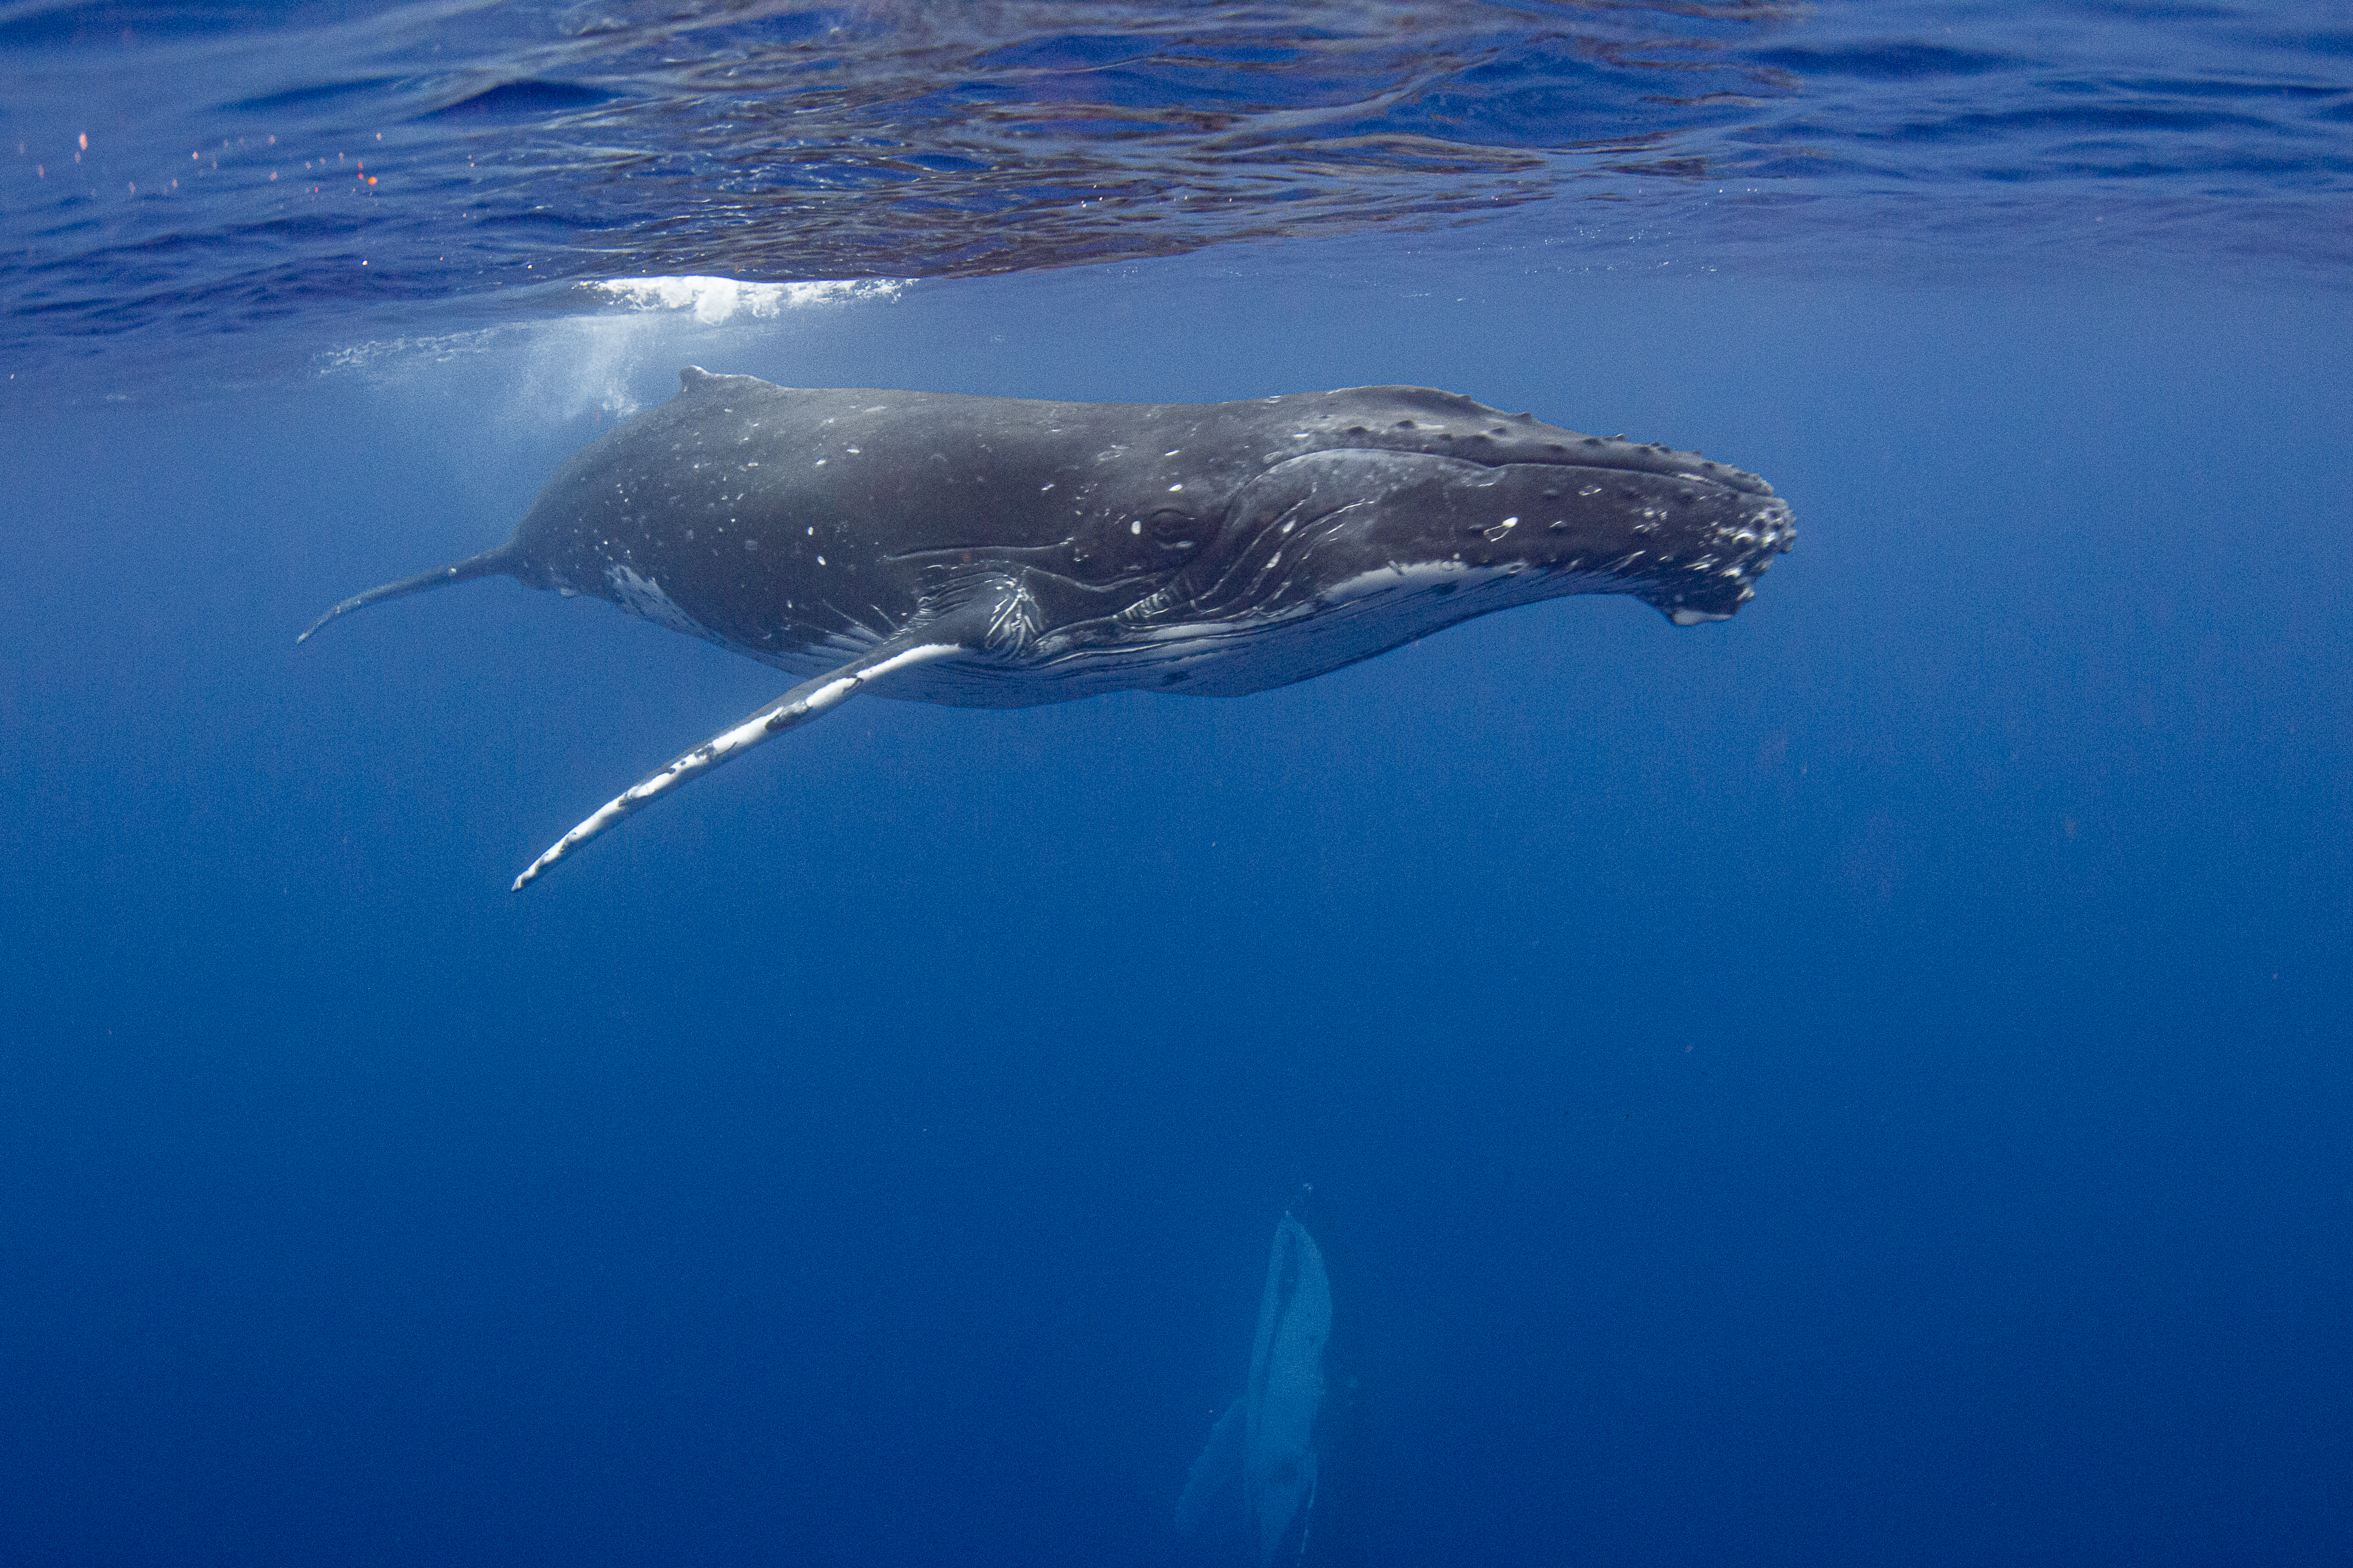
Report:
[[0,343],[953,277],[1551,202],[1595,252],[2346,261],[2334,7],[0,7]]

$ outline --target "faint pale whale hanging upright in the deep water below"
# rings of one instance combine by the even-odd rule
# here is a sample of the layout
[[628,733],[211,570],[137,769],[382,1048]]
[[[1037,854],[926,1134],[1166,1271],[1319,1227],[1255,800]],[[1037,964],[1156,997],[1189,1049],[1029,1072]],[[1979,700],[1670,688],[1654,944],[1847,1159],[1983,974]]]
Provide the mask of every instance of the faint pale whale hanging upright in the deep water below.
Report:
[[1176,1528],[1214,1559],[1308,1561],[1334,1406],[1332,1276],[1301,1190],[1275,1225],[1242,1396],[1209,1429],[1176,1500]]

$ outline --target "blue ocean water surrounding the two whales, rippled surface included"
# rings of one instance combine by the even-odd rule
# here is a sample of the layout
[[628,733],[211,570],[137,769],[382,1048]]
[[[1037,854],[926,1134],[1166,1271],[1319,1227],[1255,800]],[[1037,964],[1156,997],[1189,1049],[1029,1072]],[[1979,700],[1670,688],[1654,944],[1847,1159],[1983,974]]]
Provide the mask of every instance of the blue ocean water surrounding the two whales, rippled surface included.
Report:
[[[2353,7],[0,2],[0,1561],[2353,1559]],[[776,696],[680,364],[1704,449],[1720,625]],[[1247,1556],[1242,1561],[1257,1561]]]

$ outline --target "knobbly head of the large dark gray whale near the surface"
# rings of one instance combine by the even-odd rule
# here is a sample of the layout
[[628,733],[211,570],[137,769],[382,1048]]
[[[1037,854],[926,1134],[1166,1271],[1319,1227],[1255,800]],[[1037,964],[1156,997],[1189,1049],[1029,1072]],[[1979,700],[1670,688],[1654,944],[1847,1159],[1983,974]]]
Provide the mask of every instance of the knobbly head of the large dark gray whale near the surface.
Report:
[[1118,616],[1129,639],[1198,663],[1167,686],[1266,679],[1209,670],[1235,663],[1235,632],[1247,663],[1299,679],[1574,592],[1631,595],[1675,625],[1722,621],[1795,538],[1755,475],[1452,393],[1348,388],[1268,400],[1268,414],[1254,463],[1209,505],[1169,498],[1129,524],[1186,552]]

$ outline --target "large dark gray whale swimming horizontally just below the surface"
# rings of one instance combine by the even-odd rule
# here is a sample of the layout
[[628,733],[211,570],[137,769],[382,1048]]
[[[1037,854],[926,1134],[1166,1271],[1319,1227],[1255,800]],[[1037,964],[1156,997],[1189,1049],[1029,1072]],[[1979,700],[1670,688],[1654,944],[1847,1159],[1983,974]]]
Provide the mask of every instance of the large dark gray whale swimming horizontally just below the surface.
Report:
[[504,545],[304,632],[504,574],[807,677],[518,889],[861,689],[969,708],[1242,696],[1572,592],[1694,625],[1737,611],[1795,536],[1755,475],[1428,388],[1089,404],[680,381],[565,463]]

